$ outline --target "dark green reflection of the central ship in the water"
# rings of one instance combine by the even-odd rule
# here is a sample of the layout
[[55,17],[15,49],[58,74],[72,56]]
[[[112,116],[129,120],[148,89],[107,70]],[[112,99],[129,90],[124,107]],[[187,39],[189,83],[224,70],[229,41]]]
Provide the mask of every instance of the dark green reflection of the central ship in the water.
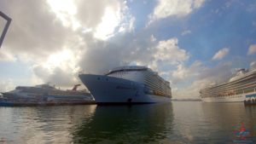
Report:
[[74,133],[75,143],[148,143],[172,132],[172,105],[98,106],[90,123]]

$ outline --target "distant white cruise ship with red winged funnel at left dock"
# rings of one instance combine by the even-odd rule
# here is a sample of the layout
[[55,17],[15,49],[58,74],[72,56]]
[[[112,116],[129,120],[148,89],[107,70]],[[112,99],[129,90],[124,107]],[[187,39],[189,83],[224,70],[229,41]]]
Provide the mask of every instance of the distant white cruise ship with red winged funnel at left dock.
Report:
[[38,106],[38,105],[78,105],[93,103],[94,98],[88,91],[56,89],[49,84],[32,87],[18,86],[14,90],[2,93],[0,106]]

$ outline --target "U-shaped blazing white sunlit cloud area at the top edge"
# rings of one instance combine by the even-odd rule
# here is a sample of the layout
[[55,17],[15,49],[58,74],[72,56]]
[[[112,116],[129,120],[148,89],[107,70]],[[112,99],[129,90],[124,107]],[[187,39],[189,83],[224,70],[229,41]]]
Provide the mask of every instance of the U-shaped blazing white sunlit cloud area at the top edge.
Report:
[[79,14],[77,14],[79,6],[72,0],[48,0],[47,2],[63,26],[72,27],[74,31],[83,27],[84,33],[92,32],[98,39],[107,40],[117,32],[133,29],[135,18],[129,13],[126,2],[113,2],[114,4],[108,5],[104,8],[104,13],[100,15],[101,21],[93,26],[87,26],[86,22],[79,21]]

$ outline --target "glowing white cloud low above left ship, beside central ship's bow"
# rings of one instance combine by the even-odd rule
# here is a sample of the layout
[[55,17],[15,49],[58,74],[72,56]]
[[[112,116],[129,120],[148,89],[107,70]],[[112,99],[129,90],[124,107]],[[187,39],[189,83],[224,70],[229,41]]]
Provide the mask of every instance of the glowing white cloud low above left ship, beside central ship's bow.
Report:
[[32,66],[32,71],[35,74],[32,80],[61,85],[62,87],[80,83],[77,78],[80,71],[78,53],[70,49],[63,49],[58,53],[49,55],[44,62]]

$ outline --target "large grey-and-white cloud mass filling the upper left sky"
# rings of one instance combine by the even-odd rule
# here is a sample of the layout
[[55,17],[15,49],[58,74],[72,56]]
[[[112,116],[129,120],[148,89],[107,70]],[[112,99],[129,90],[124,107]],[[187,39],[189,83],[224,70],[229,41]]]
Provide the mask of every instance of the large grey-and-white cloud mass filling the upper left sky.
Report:
[[[100,47],[106,48],[103,52],[111,51],[111,44],[97,38],[132,32],[135,21],[125,1],[118,0],[90,3],[80,0],[29,0],[26,3],[4,0],[0,2],[0,9],[13,20],[0,59],[26,62],[32,66],[34,82],[62,86],[77,83],[78,72],[83,68],[90,70],[88,63],[96,62],[85,58],[94,52],[98,53],[94,55],[96,57],[105,56]],[[112,55],[107,54],[106,57]],[[102,60],[98,67],[104,66],[106,60]],[[107,62],[105,68],[116,65],[114,57],[108,61],[112,65]],[[99,72],[100,69],[94,70]]]

